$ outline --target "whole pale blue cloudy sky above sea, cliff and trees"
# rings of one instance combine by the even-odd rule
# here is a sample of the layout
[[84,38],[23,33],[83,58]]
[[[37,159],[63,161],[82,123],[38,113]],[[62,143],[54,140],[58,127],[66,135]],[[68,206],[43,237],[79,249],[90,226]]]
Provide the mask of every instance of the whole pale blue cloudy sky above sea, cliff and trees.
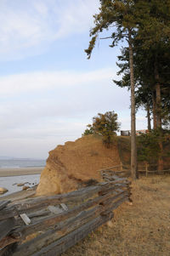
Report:
[[99,112],[130,129],[130,94],[112,82],[121,46],[99,40],[90,60],[84,52],[98,9],[99,0],[0,1],[0,156],[47,158]]

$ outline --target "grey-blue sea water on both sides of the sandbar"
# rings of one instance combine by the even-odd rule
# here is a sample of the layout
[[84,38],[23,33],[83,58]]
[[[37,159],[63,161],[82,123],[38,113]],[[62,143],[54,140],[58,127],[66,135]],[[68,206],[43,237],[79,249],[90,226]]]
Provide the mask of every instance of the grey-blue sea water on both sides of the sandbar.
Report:
[[[37,168],[45,167],[46,160],[44,159],[31,159],[31,158],[6,158],[0,159],[0,169],[10,168]],[[39,183],[40,174],[20,175],[0,177],[0,187],[8,189],[8,192],[1,195],[8,196],[14,192],[22,191],[22,186],[17,186],[18,183],[24,183],[28,186],[34,186]]]

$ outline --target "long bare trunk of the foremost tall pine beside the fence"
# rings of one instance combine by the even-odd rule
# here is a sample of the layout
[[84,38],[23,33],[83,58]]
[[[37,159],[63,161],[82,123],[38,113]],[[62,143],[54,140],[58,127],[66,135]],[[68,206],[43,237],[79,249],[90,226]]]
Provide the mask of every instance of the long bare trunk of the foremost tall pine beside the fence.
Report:
[[128,44],[129,44],[129,67],[130,67],[130,83],[131,83],[131,174],[133,179],[138,179],[134,74],[133,74],[133,45],[132,45],[132,37],[131,37],[130,30],[128,31]]

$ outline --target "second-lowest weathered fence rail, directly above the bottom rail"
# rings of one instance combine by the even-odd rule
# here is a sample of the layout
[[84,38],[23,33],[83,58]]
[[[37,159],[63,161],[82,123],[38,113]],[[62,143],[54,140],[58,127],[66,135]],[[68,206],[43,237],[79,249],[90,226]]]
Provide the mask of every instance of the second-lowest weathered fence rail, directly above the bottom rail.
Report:
[[42,235],[37,236],[29,242],[21,244],[14,252],[14,256],[20,255],[32,255],[42,247],[48,246],[48,244],[56,241],[61,236],[65,236],[73,230],[76,230],[82,225],[85,225],[88,221],[95,219],[103,211],[101,206],[97,206],[88,211],[77,214],[76,217],[60,222],[52,230],[48,230]]

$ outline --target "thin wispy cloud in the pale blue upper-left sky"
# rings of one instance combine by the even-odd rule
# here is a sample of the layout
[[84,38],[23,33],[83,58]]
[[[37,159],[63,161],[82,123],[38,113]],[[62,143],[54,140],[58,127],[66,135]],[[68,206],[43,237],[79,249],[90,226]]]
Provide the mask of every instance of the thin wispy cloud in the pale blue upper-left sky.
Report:
[[89,30],[98,6],[98,0],[1,1],[0,59],[41,54],[59,38]]

